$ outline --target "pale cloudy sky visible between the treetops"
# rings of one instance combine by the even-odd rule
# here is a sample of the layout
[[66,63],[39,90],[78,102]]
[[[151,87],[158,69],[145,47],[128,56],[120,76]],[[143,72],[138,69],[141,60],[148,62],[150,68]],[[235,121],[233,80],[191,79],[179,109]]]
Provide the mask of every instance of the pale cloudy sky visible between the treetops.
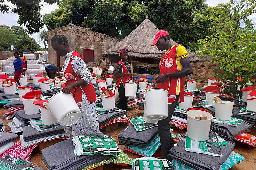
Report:
[[[217,4],[227,3],[227,2],[229,2],[229,0],[207,0],[208,6],[216,6]],[[48,14],[56,10],[57,8],[58,8],[57,4],[49,5],[49,4],[43,3],[40,13],[42,15]],[[252,19],[256,23],[256,14],[253,14],[248,18]],[[9,25],[10,27],[14,25],[18,25],[17,23],[18,19],[19,19],[19,16],[17,14],[14,14],[11,12],[3,14],[0,12],[0,25],[5,24],[5,25]],[[22,27],[26,29],[26,26],[23,25]],[[46,26],[40,29],[40,31],[42,32],[42,30],[44,29],[46,29]],[[40,45],[40,47],[44,47],[44,43],[43,41],[41,41],[41,38],[40,38],[40,33],[35,33],[33,35],[30,35],[30,37],[34,38],[35,41],[37,41],[37,43]]]

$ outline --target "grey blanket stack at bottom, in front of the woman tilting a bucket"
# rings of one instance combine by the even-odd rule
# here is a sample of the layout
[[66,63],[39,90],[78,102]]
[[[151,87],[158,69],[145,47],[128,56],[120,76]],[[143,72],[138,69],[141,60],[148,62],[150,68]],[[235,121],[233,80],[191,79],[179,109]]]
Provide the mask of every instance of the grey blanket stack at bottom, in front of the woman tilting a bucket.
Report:
[[48,170],[80,170],[112,157],[102,154],[76,156],[74,149],[72,139],[42,149],[43,161]]

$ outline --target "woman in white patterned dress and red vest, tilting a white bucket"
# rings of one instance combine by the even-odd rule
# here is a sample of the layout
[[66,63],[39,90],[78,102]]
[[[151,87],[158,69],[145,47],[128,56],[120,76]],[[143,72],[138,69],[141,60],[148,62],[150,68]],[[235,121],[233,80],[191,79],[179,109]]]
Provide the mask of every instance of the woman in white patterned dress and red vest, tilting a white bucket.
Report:
[[64,35],[55,35],[51,39],[52,48],[60,56],[66,56],[63,65],[63,75],[67,82],[62,86],[62,92],[73,94],[82,116],[75,124],[64,127],[69,138],[99,133],[99,122],[96,111],[96,95],[93,88],[91,72],[83,58],[71,51]]

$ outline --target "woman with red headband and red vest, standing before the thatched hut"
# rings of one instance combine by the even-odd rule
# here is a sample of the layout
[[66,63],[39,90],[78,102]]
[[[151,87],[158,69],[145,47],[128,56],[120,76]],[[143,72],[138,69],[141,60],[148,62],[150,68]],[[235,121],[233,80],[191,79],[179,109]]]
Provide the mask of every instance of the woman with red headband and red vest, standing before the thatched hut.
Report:
[[116,67],[116,85],[118,88],[120,101],[118,103],[118,108],[127,110],[128,98],[125,97],[125,83],[129,82],[130,78],[132,78],[131,65],[128,63],[128,49],[123,48],[120,51],[121,60],[117,63]]

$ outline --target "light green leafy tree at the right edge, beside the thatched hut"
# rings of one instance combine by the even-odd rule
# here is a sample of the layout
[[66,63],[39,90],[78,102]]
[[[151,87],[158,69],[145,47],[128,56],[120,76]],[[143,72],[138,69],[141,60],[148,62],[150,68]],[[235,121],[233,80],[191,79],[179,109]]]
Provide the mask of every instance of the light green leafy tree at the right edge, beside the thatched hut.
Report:
[[237,77],[243,79],[242,85],[253,76],[256,68],[256,30],[248,16],[256,12],[256,0],[231,0],[208,8],[213,15],[197,14],[202,20],[213,23],[212,35],[200,39],[200,55],[212,56],[224,74],[222,78],[232,80],[233,96],[237,95]]

